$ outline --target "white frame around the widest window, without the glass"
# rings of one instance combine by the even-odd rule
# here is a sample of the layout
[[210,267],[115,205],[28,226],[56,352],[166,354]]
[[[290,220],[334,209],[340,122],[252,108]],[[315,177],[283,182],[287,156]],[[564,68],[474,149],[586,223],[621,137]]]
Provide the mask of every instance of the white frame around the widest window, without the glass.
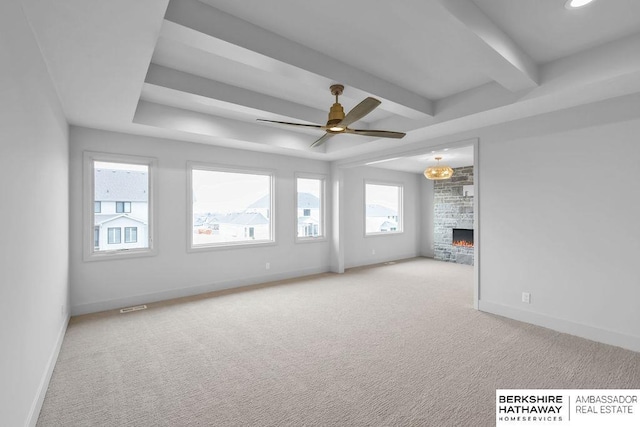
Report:
[[[220,242],[206,245],[193,245],[193,171],[229,172],[244,173],[249,175],[265,175],[269,177],[269,194],[271,197],[269,206],[269,239],[264,240],[243,240],[238,242]],[[215,251],[232,248],[254,248],[260,246],[276,245],[276,174],[272,169],[235,167],[219,165],[214,163],[187,162],[187,252]]]

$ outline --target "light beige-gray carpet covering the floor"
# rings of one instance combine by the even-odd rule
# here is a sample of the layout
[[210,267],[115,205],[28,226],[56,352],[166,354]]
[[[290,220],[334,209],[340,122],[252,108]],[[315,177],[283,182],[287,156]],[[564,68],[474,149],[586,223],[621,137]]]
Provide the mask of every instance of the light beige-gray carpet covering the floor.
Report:
[[640,388],[640,353],[472,308],[419,258],[71,319],[39,426],[492,426],[497,388]]

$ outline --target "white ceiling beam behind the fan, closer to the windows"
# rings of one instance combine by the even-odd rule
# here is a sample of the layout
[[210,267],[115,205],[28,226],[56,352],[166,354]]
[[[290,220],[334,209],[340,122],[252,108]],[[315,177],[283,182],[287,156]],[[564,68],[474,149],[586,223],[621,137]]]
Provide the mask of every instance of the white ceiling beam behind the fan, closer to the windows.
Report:
[[[289,120],[324,123],[327,112],[273,96],[151,64],[145,82],[207,98],[211,106],[228,108],[253,116],[253,119]],[[266,113],[266,114],[265,114]]]

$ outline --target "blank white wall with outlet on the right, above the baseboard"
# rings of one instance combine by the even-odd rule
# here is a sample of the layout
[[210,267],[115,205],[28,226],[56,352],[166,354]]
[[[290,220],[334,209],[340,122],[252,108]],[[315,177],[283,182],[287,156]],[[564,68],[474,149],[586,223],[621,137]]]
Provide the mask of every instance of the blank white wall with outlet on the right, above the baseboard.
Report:
[[480,139],[482,310],[640,351],[638,135]]

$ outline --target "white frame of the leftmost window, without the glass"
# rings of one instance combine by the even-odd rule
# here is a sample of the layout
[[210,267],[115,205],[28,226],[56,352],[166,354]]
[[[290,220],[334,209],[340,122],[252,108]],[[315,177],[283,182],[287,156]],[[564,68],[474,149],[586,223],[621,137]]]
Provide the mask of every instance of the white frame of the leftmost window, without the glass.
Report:
[[[149,168],[149,202],[148,202],[148,220],[147,233],[149,239],[149,247],[147,248],[131,248],[131,249],[114,249],[114,250],[94,250],[94,162],[113,162],[128,163],[133,165],[145,165]],[[122,258],[155,256],[157,250],[157,230],[155,225],[156,217],[156,185],[155,175],[158,169],[158,160],[153,157],[141,157],[126,154],[101,153],[93,151],[85,151],[83,153],[83,261],[105,261]],[[122,236],[124,237],[124,236]]]

